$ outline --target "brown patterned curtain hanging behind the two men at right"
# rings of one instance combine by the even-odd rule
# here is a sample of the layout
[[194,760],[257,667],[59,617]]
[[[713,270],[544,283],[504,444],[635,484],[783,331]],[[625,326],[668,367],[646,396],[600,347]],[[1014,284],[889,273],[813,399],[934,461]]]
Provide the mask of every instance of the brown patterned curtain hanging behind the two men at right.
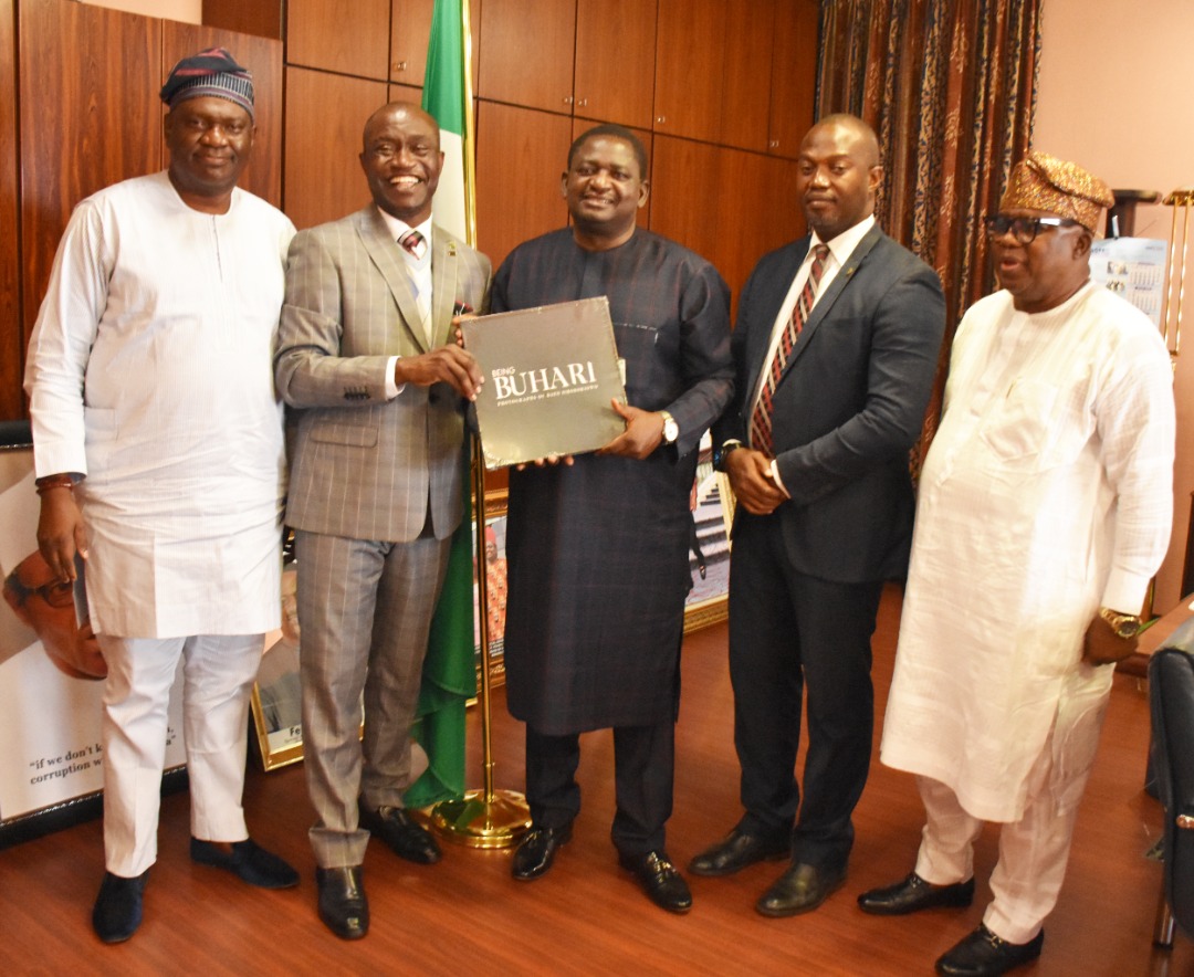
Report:
[[[937,270],[942,366],[961,314],[995,287],[981,218],[1029,148],[1041,0],[821,0],[818,117],[879,134],[884,229]],[[944,370],[929,406],[940,413]],[[915,464],[915,459],[913,459]]]

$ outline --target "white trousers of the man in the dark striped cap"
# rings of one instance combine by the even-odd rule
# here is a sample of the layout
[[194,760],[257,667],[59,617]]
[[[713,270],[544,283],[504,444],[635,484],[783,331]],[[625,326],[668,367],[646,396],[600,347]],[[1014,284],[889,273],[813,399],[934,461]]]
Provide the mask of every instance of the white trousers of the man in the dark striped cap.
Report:
[[158,808],[167,706],[184,658],[183,734],[191,834],[244,841],[248,699],[264,635],[189,638],[99,636],[104,686],[104,853],[107,871],[134,878],[158,858]]

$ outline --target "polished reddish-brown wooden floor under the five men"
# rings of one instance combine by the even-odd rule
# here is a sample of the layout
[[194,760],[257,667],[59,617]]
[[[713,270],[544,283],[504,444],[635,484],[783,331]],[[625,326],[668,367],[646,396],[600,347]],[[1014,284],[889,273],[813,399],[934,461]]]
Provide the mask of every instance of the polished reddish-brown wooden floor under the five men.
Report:
[[[892,589],[875,639],[880,716],[898,614],[899,594]],[[739,816],[724,624],[689,637],[683,681],[676,812],[669,824],[669,849],[678,864]],[[493,716],[497,786],[521,790],[522,728],[506,713],[500,691]],[[476,754],[475,725],[470,737]],[[1044,956],[1026,973],[1194,973],[1194,942],[1178,934],[1171,953],[1151,945],[1161,867],[1144,853],[1157,839],[1161,811],[1141,790],[1147,738],[1146,695],[1135,680],[1116,676],[1070,872],[1046,923]],[[474,772],[479,781],[479,761]],[[119,946],[101,945],[90,925],[103,873],[98,822],[0,852],[0,975],[915,975],[931,973],[936,957],[981,919],[993,830],[979,845],[971,909],[904,920],[858,911],[860,891],[909,871],[922,822],[911,779],[878,763],[856,812],[849,879],[818,911],[790,920],[759,916],[753,902],[782,867],[769,862],[728,879],[690,878],[693,911],[669,915],[616,865],[609,842],[611,774],[609,735],[586,736],[584,811],[574,839],[552,872],[534,883],[511,879],[507,852],[447,846],[439,865],[420,867],[370,846],[365,883],[373,927],[367,939],[345,944],[315,916],[302,768],[266,774],[254,763],[246,785],[250,828],[301,867],[296,890],[263,892],[192,865],[187,798],[176,794],[162,808],[144,922]]]

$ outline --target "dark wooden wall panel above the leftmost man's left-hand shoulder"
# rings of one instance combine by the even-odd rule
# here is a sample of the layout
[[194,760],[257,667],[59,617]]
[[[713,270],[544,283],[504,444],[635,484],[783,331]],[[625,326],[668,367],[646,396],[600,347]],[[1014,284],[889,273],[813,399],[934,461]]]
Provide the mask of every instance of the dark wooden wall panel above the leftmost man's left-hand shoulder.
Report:
[[21,348],[75,204],[161,168],[161,24],[66,0],[20,4]]

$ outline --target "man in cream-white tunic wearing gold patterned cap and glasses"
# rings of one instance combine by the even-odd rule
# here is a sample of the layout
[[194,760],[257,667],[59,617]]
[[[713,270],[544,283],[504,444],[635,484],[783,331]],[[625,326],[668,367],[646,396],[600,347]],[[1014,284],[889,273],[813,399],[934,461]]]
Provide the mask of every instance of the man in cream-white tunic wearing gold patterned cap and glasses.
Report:
[[1173,372],[1152,323],[1090,282],[1106,185],[1030,153],[986,218],[1003,290],[966,314],[919,483],[882,762],[917,774],[916,870],[864,911],[968,905],[1002,823],[983,925],[937,960],[1036,958],[1098,744],[1169,543]]

